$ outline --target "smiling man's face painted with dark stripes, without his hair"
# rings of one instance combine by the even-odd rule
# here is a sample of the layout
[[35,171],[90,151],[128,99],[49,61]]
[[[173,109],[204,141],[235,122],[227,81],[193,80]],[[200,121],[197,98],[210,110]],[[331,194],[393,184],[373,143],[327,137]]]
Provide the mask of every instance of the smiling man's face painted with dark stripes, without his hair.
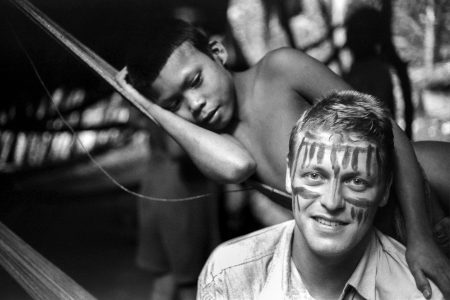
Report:
[[377,146],[326,131],[306,132],[299,143],[290,173],[294,238],[323,256],[352,253],[385,202]]

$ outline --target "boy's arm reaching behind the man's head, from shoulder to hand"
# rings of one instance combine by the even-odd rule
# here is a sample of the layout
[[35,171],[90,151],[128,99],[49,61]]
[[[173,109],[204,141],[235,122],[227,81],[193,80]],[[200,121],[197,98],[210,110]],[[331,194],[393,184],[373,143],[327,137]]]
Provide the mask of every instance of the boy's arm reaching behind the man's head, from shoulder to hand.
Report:
[[[339,76],[317,60],[294,49],[272,52],[272,67],[277,75],[309,103],[334,90],[351,89]],[[450,298],[450,264],[434,243],[425,213],[422,172],[412,145],[393,121],[396,150],[396,194],[405,216],[406,258],[417,287],[427,296],[431,292],[426,274]]]

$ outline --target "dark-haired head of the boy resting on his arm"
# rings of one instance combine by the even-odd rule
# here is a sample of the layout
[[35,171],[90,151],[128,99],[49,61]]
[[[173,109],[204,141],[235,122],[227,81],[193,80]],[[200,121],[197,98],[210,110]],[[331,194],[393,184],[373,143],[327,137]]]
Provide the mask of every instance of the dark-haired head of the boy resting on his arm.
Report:
[[181,20],[160,22],[136,34],[127,57],[128,80],[144,96],[182,118],[221,130],[234,112],[234,83],[224,68],[227,52]]

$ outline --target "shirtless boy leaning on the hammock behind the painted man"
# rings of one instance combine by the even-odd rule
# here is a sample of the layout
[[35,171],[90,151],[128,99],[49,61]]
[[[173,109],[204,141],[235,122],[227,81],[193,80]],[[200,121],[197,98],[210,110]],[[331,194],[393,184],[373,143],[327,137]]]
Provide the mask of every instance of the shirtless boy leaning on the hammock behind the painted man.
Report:
[[[290,129],[316,99],[350,88],[320,62],[288,48],[231,73],[224,67],[224,46],[181,21],[166,22],[132,50],[118,81],[135,97],[151,99],[147,109],[154,121],[206,176],[220,182],[242,182],[255,174],[284,190]],[[425,296],[431,291],[427,274],[450,297],[450,263],[432,240],[419,165],[396,125],[394,137],[396,173],[408,174],[398,176],[396,191],[409,266]]]

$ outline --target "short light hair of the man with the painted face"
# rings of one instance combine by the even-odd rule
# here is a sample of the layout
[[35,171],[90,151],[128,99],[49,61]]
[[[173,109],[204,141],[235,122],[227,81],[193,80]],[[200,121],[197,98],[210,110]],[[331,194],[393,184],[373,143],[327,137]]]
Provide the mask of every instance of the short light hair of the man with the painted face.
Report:
[[356,133],[376,144],[383,179],[392,177],[394,138],[390,112],[374,96],[356,91],[333,92],[306,111],[292,129],[289,139],[289,166],[297,151],[301,132],[324,130],[333,133]]

